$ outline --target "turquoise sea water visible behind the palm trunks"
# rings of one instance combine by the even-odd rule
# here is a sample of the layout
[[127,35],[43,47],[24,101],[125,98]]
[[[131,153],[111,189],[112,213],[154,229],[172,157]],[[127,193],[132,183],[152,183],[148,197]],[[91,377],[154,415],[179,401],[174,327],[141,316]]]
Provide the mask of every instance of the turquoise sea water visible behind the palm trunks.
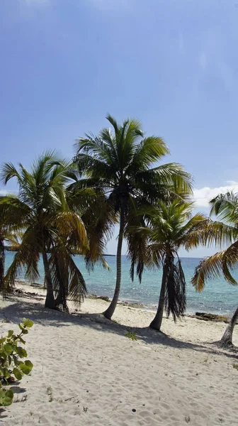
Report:
[[[10,266],[14,253],[6,252],[6,268]],[[74,256],[81,273],[86,280],[86,286],[89,293],[96,295],[113,296],[115,287],[115,257],[106,256],[111,271],[103,269],[101,265],[96,265],[94,272],[88,273],[85,268],[84,259],[81,256]],[[187,283],[187,313],[213,312],[221,314],[231,314],[238,304],[238,286],[229,285],[223,278],[212,280],[206,286],[202,293],[196,293],[190,283],[194,268],[198,265],[199,258],[181,258],[183,271]],[[146,270],[140,284],[137,279],[132,283],[130,280],[130,261],[123,256],[122,261],[122,285],[120,300],[128,302],[142,302],[149,309],[156,309],[159,298],[160,283],[162,271],[154,269]],[[43,283],[43,265],[42,260],[39,264],[40,279],[38,283]],[[238,272],[234,273],[238,279]],[[23,274],[18,278],[23,279]]]

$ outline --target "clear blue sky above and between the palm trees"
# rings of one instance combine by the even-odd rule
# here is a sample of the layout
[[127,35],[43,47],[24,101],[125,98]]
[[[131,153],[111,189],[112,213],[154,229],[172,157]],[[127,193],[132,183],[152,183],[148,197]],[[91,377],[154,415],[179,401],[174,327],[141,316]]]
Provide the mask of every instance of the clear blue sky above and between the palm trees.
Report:
[[137,116],[208,212],[212,195],[238,190],[237,22],[236,0],[1,0],[1,161],[71,157],[107,112]]

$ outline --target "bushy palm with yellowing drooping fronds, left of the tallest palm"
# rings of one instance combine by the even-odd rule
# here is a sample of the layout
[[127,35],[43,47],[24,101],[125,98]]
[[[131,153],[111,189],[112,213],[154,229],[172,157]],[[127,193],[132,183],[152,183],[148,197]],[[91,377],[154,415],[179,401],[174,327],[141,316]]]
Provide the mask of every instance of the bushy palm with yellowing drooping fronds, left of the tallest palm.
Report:
[[1,197],[0,205],[8,214],[17,212],[24,228],[21,245],[6,273],[5,285],[13,287],[23,267],[27,278],[37,279],[42,255],[47,289],[45,307],[52,309],[58,306],[67,309],[67,297],[80,302],[86,293],[84,278],[72,252],[88,253],[89,242],[77,207],[80,193],[70,197],[70,191],[65,190],[69,175],[72,178],[69,163],[51,151],[38,158],[30,172],[21,164],[17,170],[11,163],[5,163],[1,170],[4,183],[16,178],[19,192],[17,197]]

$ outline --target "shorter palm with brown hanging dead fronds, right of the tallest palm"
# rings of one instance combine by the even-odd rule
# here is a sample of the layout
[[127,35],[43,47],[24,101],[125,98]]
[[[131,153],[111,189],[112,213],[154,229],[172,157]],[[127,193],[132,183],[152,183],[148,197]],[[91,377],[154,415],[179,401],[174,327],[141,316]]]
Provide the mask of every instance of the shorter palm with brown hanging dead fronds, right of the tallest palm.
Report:
[[192,209],[193,203],[181,198],[171,202],[159,200],[149,213],[149,226],[138,229],[138,233],[144,233],[148,239],[147,259],[151,257],[151,266],[162,267],[163,271],[157,313],[149,325],[153,329],[161,329],[164,307],[168,317],[173,315],[174,322],[186,310],[186,280],[178,251],[205,244],[212,229],[203,214],[192,217]]

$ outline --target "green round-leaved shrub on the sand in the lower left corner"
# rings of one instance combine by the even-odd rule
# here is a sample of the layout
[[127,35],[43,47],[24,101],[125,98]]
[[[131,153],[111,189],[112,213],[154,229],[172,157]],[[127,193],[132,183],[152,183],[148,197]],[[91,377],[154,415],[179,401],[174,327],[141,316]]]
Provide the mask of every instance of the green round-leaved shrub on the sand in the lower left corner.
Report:
[[[21,380],[24,374],[29,374],[33,364],[29,361],[23,361],[27,357],[26,349],[18,346],[19,343],[25,344],[24,334],[28,334],[28,329],[33,326],[33,321],[23,318],[23,322],[18,324],[21,329],[19,334],[14,334],[13,330],[8,330],[7,337],[0,339],[0,406],[11,405],[13,402],[13,391],[6,391],[4,385],[11,381]],[[11,376],[13,374],[13,376]]]

